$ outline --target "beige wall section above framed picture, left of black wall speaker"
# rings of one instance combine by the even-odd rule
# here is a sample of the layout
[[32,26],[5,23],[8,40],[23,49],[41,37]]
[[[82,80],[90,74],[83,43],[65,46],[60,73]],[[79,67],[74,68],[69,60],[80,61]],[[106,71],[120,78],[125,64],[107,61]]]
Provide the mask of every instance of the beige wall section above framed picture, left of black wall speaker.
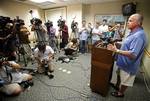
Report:
[[122,14],[121,5],[122,2],[109,2],[87,5],[85,9],[87,22],[94,23],[94,16],[97,14]]

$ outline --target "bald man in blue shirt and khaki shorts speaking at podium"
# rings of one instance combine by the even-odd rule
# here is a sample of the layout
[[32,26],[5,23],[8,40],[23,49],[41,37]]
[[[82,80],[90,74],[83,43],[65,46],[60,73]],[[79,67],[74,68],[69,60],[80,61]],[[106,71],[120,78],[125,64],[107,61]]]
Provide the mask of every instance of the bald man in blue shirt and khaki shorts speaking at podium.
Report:
[[127,22],[130,33],[123,41],[121,48],[117,49],[116,45],[112,44],[107,46],[108,50],[114,51],[117,54],[116,64],[121,80],[119,90],[112,92],[112,96],[124,97],[126,89],[133,86],[146,46],[146,35],[142,22],[142,15],[131,15]]

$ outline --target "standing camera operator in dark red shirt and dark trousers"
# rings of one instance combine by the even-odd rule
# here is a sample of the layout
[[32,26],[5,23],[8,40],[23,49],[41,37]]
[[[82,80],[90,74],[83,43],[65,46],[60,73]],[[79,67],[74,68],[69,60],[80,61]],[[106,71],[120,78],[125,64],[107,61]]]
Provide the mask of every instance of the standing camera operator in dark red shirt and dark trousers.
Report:
[[64,48],[68,44],[68,26],[65,24],[65,20],[61,21],[61,26],[59,28],[60,38],[62,42],[60,43],[60,48]]

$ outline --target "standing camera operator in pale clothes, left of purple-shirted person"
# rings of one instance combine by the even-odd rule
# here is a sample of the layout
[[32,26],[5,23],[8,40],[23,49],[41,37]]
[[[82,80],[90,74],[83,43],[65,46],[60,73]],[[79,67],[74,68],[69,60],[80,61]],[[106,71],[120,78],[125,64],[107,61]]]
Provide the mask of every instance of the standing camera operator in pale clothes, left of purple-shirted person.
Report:
[[37,42],[46,42],[46,28],[42,25],[42,21],[38,18],[31,20],[31,31],[35,32]]

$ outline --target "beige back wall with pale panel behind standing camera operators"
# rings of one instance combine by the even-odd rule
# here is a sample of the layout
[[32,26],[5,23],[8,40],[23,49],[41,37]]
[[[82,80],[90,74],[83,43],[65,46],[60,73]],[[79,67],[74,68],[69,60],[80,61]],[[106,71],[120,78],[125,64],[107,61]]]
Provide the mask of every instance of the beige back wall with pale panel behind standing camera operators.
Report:
[[[61,9],[64,9],[64,8],[65,8],[65,10],[62,11]],[[55,12],[53,12],[54,10],[55,10]],[[61,12],[61,14],[60,14],[60,12]],[[55,25],[54,27],[56,29],[58,29],[57,20],[60,19],[60,16],[62,16],[63,19],[66,20],[66,24],[68,25],[69,35],[71,35],[71,31],[72,31],[71,30],[71,22],[73,21],[73,18],[75,18],[75,21],[77,21],[79,23],[79,26],[81,26],[80,22],[82,21],[82,4],[68,5],[66,7],[46,9],[45,15],[47,15],[45,18],[49,18],[49,20],[51,20],[50,19],[51,16],[53,17],[53,19],[55,19],[52,21],[53,21],[53,23]]]

